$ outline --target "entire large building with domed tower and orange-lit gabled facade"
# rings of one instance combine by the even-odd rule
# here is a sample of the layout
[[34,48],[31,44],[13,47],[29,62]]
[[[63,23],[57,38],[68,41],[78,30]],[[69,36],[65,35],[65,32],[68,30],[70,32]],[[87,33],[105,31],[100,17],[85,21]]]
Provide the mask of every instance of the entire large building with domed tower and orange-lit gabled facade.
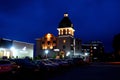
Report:
[[58,27],[58,36],[48,33],[36,40],[36,56],[72,58],[80,56],[81,40],[74,37],[74,27],[65,13]]

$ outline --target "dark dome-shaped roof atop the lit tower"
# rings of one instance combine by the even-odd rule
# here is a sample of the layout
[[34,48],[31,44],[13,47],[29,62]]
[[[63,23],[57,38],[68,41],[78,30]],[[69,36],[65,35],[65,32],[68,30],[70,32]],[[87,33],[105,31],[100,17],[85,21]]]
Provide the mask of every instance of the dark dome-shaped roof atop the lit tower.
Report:
[[66,28],[66,27],[72,27],[72,22],[69,19],[69,17],[64,16],[64,18],[60,21],[58,28]]

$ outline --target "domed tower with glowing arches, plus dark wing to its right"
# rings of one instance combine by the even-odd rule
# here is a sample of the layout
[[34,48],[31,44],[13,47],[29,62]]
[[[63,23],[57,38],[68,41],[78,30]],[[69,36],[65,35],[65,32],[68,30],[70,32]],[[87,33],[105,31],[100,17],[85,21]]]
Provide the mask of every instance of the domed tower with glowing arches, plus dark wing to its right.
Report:
[[58,30],[57,48],[62,52],[63,57],[73,57],[81,52],[81,40],[74,37],[74,27],[68,14],[65,13],[60,21]]

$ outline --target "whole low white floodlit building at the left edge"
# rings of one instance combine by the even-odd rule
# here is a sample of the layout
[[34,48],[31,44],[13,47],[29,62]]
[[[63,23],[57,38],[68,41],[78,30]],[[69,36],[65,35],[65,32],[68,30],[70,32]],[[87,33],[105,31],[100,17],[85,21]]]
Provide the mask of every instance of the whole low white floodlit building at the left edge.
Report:
[[33,58],[33,44],[0,38],[0,58]]

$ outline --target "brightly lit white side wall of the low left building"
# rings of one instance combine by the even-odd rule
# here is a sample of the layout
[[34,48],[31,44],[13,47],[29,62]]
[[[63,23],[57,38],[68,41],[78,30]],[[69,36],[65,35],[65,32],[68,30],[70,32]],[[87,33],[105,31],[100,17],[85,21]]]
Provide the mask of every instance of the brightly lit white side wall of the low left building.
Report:
[[13,40],[12,51],[14,58],[24,58],[26,56],[33,58],[33,47],[31,43]]

